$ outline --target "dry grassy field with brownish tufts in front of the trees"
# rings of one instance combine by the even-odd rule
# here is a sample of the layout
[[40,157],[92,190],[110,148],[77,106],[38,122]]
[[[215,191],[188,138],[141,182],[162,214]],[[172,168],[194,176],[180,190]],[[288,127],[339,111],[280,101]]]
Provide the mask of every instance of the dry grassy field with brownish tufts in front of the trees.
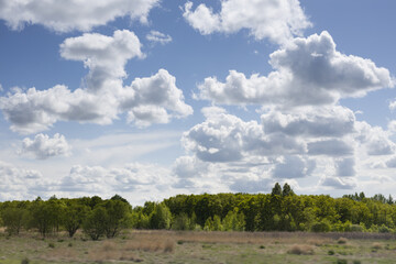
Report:
[[90,241],[80,233],[0,237],[0,263],[395,263],[393,234],[123,231]]

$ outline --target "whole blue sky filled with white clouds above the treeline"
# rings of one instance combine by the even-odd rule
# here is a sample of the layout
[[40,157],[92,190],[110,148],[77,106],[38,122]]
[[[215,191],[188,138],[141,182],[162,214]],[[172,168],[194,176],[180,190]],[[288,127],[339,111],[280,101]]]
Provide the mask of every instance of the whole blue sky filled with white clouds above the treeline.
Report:
[[0,200],[395,194],[393,0],[0,0]]

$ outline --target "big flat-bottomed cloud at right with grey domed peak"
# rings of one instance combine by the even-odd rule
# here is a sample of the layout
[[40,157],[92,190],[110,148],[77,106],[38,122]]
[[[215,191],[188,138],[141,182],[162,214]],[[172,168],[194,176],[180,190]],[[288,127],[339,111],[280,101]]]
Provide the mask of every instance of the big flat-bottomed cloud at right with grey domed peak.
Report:
[[346,56],[336,50],[328,32],[295,38],[271,54],[276,69],[268,76],[230,70],[226,82],[216,77],[199,85],[200,99],[223,105],[266,105],[283,108],[322,106],[340,98],[361,97],[384,87],[394,87],[386,68],[372,61]]

